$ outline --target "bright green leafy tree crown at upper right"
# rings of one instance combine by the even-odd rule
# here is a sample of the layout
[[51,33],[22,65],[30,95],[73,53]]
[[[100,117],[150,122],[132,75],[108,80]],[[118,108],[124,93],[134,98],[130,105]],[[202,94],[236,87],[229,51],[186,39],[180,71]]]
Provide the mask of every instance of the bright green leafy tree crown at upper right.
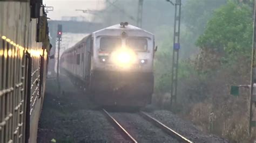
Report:
[[204,34],[197,40],[201,48],[230,53],[250,53],[253,31],[252,10],[246,4],[228,1],[214,12]]

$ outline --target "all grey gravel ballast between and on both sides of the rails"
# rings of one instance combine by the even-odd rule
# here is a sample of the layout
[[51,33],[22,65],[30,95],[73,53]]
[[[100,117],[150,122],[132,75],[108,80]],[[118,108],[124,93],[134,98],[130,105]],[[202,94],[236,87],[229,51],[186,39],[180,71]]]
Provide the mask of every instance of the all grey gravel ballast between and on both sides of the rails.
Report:
[[[102,108],[92,103],[68,77],[60,75],[59,83],[60,88],[53,78],[46,82],[38,143],[52,139],[64,143],[130,141],[106,119]],[[170,111],[154,109],[147,113],[193,142],[227,142],[215,135],[202,133],[192,123],[183,121]],[[178,142],[138,113],[111,112],[111,115],[139,142]]]

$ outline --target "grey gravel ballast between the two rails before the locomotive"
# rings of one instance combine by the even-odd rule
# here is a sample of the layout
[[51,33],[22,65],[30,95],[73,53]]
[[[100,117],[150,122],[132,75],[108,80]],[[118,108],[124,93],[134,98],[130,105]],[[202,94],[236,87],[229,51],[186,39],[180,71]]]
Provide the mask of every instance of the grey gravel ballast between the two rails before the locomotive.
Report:
[[111,115],[128,131],[138,142],[178,142],[160,128],[146,121],[137,113],[111,113]]

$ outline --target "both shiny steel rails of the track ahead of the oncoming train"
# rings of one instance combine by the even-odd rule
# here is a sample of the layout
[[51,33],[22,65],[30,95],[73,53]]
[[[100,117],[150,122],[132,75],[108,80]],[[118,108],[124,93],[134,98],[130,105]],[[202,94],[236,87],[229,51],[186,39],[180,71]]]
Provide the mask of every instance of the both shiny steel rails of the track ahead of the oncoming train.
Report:
[[[117,130],[122,132],[122,135],[125,139],[130,140],[131,142],[138,142],[135,139],[135,137],[132,137],[132,135],[131,135],[132,133],[129,133],[126,130],[125,125],[120,124],[120,122],[118,121],[117,118],[114,118],[113,116],[111,116],[111,113],[107,112],[105,109],[103,109],[103,112],[105,113],[107,119],[110,120],[111,123],[114,125],[114,127],[116,127]],[[176,139],[178,142],[192,142],[192,141],[186,139],[185,137],[183,137],[182,135],[180,135],[179,133],[173,131],[170,127],[167,127],[166,125],[164,125],[163,123],[161,123],[157,119],[151,117],[149,114],[147,114],[145,112],[141,111],[139,113],[134,113],[134,114],[137,114],[140,117],[142,117],[143,119],[149,121],[149,123],[153,124],[154,126],[159,128],[160,130],[165,132],[166,134],[170,135],[170,137],[172,137],[173,139]],[[133,133],[133,135],[134,135],[134,133]]]

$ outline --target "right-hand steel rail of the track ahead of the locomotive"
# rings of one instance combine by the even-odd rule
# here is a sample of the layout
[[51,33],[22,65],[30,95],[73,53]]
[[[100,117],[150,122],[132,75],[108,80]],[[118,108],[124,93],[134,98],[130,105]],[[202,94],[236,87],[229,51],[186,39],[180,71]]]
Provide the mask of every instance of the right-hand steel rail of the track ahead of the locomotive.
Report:
[[189,142],[192,143],[192,141],[186,139],[185,137],[183,137],[182,135],[178,134],[177,132],[173,131],[170,127],[167,127],[166,125],[164,125],[163,123],[161,123],[160,121],[158,121],[157,119],[151,117],[150,115],[148,115],[147,113],[141,111],[140,115],[145,118],[146,120],[150,121],[151,123],[153,123],[154,125],[158,126],[159,128],[161,128],[164,132],[166,132],[167,134],[170,134],[173,138],[177,139],[180,142]]

